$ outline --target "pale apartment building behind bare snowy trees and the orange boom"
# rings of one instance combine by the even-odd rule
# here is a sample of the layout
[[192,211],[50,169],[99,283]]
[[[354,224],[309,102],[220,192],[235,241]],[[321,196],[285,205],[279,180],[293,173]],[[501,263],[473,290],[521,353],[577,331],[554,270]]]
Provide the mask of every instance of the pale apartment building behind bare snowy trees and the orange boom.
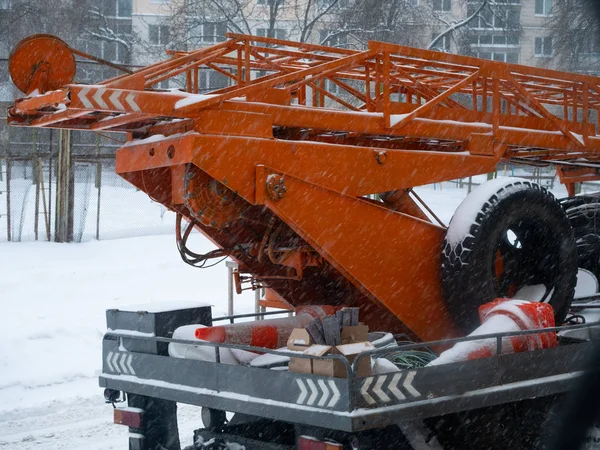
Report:
[[[174,20],[173,11],[184,0],[99,0],[96,29],[102,33],[70,39],[70,44],[88,53],[110,61],[133,66],[143,66],[165,57],[167,46],[183,50],[210,45],[225,39],[227,31],[252,33],[266,36],[269,30],[269,6],[271,0],[244,0],[243,19],[227,21],[218,13],[192,20],[190,17]],[[332,0],[318,0],[309,18],[319,15]],[[440,39],[436,50],[467,53],[481,58],[519,63],[532,66],[554,67],[554,45],[549,30],[553,2],[557,0],[496,0],[493,7],[486,6],[478,16],[463,27]],[[343,7],[348,0],[339,0]],[[415,8],[424,8],[429,19],[423,23],[404,24],[405,34],[410,35],[408,45],[428,46],[448,26],[469,17],[481,5],[481,0],[410,0]],[[16,8],[18,0],[0,0],[0,15]],[[277,14],[274,37],[304,40],[313,43],[327,41],[333,46],[352,46],[351,33],[339,33],[334,15],[319,17],[311,33],[303,29],[305,3],[302,0],[285,0]],[[101,23],[100,23],[101,22]],[[177,27],[174,30],[174,26]],[[89,27],[94,29],[94,27]],[[410,28],[410,30],[408,30]],[[467,31],[465,31],[465,29]],[[108,31],[106,31],[108,30]],[[182,36],[185,33],[185,36]],[[179,39],[173,39],[178,34]],[[174,43],[176,41],[176,43]],[[6,58],[9,48],[0,42],[0,95],[13,97],[8,89]],[[112,69],[93,65],[81,65],[78,79],[97,81],[107,78]],[[220,74],[202,76],[201,87],[223,87],[226,77]],[[160,87],[169,87],[163,83]]]

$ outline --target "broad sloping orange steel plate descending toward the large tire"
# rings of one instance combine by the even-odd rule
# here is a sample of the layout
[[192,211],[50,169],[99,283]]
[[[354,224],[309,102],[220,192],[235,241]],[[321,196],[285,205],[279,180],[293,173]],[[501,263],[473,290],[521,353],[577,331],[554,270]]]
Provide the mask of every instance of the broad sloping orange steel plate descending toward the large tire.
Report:
[[[293,177],[286,177],[286,184],[286,196],[265,197],[265,205],[321,248],[346,278],[422,339],[458,334],[443,302],[441,279],[431,276],[441,265],[443,228]],[[310,215],[303,213],[307,210]]]

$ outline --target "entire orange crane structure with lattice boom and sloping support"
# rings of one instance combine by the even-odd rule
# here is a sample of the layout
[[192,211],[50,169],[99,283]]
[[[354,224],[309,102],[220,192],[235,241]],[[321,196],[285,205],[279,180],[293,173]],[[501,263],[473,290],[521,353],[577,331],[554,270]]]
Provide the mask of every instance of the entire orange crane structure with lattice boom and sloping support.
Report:
[[[358,305],[374,329],[454,336],[439,276],[445,230],[410,189],[499,161],[558,163],[570,191],[600,179],[596,77],[240,34],[170,56],[89,86],[17,71],[25,92],[56,91],[17,99],[9,121],[130,133],[117,172],[226,249],[240,283],[292,306]],[[230,85],[203,92],[203,71]],[[169,79],[185,89],[156,88]]]

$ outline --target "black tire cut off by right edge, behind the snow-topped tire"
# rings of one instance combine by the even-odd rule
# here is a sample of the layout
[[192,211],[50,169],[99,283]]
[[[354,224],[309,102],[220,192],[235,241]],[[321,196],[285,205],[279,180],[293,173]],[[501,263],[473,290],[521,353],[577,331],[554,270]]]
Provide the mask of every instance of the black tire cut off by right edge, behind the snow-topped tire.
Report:
[[560,202],[575,234],[579,267],[600,280],[600,197],[581,195]]

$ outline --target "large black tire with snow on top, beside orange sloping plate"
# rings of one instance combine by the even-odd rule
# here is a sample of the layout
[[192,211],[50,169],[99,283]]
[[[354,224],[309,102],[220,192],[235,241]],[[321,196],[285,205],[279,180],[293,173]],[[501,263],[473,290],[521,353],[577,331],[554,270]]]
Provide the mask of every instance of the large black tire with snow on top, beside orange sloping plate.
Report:
[[442,289],[465,333],[479,326],[479,306],[501,297],[548,302],[561,324],[576,278],[569,220],[554,196],[535,183],[489,181],[467,196],[450,221]]

